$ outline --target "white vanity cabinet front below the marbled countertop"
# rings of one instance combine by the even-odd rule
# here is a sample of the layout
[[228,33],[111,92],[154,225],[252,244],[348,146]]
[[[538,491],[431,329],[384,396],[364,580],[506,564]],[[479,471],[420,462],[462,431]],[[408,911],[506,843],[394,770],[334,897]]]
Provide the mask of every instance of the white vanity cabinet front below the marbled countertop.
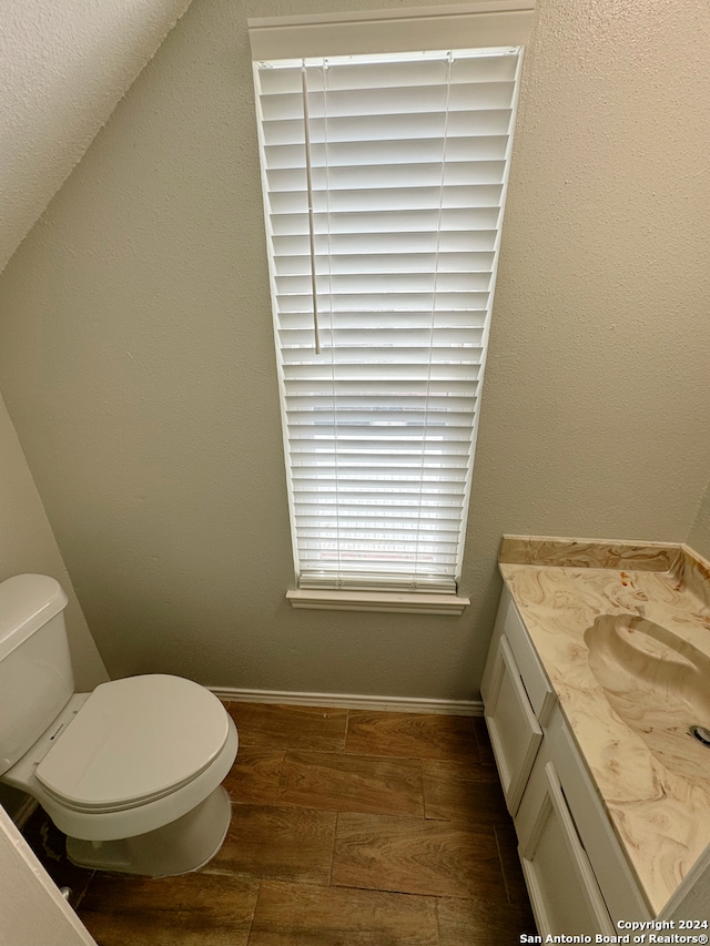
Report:
[[651,918],[507,589],[481,695],[539,933],[612,935],[619,919]]

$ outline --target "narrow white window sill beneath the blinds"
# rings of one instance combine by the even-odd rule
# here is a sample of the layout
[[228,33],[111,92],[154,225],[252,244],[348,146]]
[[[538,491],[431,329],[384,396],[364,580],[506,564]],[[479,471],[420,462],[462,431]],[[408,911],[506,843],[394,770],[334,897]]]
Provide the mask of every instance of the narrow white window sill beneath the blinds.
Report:
[[286,591],[292,608],[314,611],[390,611],[398,614],[452,614],[459,617],[470,603],[455,594],[394,591]]

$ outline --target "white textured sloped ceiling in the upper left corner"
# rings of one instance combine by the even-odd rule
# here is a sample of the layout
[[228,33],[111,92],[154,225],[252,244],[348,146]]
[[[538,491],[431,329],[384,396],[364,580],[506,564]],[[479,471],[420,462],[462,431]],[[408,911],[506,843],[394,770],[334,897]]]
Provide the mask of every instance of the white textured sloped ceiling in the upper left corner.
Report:
[[0,269],[190,0],[0,0]]

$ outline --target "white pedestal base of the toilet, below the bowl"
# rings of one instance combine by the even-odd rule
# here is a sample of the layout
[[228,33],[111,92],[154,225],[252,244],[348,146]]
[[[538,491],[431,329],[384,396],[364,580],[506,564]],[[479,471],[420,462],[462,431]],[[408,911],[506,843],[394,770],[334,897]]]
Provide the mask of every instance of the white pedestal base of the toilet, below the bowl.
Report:
[[217,853],[226,836],[232,806],[217,786],[204,802],[176,821],[121,841],[67,838],[67,856],[78,867],[170,877],[197,871]]

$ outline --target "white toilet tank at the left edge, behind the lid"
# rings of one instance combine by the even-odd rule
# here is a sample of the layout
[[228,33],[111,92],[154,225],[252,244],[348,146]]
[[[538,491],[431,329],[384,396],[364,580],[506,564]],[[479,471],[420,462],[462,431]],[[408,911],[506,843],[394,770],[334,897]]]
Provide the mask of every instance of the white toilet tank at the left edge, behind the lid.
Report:
[[51,725],[74,692],[63,610],[45,574],[0,582],[0,774]]

